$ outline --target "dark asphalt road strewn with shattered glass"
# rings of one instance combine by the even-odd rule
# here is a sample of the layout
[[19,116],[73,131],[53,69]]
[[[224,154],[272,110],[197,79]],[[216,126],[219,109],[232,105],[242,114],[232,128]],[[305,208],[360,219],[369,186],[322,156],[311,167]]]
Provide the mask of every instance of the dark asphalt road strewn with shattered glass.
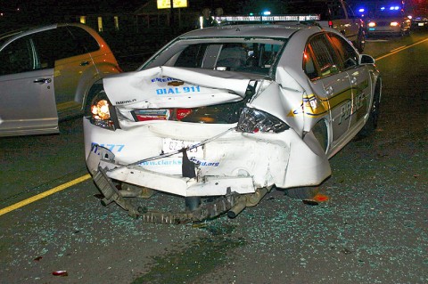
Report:
[[317,206],[272,191],[235,219],[160,225],[102,207],[86,180],[4,213],[86,167],[80,119],[2,138],[0,283],[427,283],[426,38],[367,42],[383,75],[379,128],[331,159]]

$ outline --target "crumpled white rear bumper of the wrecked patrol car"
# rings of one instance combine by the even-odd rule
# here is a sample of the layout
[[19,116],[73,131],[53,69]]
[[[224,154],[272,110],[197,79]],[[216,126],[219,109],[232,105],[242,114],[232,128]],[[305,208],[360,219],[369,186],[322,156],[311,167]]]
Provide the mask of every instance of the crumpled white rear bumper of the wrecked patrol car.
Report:
[[[156,152],[161,152],[164,137],[152,129],[141,126],[111,132],[87,121],[84,121],[84,125],[86,166],[91,174],[96,174],[100,166],[105,169],[106,176],[117,182],[182,197],[223,196],[228,192],[246,194],[272,185],[278,188],[317,185],[331,174],[328,159],[317,150],[313,134],[307,134],[302,140],[292,130],[281,134],[225,131],[218,139],[203,145],[203,158],[199,161],[199,166],[195,166],[195,177],[188,177],[181,170],[184,164],[181,156],[184,155],[151,158],[151,153],[156,155]],[[186,132],[176,128],[179,133],[192,135],[201,134],[202,130],[209,128],[199,125],[193,127],[195,129],[186,129]],[[225,127],[224,130],[226,129]],[[168,129],[168,133],[175,137],[172,135],[172,128]],[[207,134],[205,137],[213,135]],[[108,150],[98,143],[124,146],[123,150],[118,150],[117,146]],[[190,151],[187,153],[190,154]],[[140,160],[137,161],[138,159]]]

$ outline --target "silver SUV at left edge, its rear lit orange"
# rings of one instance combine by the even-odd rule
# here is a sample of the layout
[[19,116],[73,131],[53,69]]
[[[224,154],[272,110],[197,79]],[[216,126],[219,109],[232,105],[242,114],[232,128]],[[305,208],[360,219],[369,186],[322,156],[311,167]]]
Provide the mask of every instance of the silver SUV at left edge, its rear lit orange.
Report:
[[94,29],[54,24],[0,35],[0,136],[58,133],[95,81],[119,73]]

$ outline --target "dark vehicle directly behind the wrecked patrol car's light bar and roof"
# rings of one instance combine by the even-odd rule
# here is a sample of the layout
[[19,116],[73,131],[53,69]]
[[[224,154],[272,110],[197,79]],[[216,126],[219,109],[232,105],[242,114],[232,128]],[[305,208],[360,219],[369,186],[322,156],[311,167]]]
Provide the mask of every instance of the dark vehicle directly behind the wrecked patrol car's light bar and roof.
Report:
[[317,23],[322,27],[330,27],[338,30],[347,37],[361,53],[366,44],[366,34],[363,20],[359,19],[350,5],[343,0],[295,0],[285,7],[289,14],[321,15]]

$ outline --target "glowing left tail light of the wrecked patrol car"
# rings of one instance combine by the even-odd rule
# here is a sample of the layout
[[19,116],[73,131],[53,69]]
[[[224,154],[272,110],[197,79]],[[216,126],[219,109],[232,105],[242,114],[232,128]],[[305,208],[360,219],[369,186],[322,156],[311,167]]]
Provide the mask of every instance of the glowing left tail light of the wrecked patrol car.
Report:
[[114,107],[104,92],[97,93],[89,103],[85,117],[89,118],[93,125],[110,130],[119,128],[119,121]]

